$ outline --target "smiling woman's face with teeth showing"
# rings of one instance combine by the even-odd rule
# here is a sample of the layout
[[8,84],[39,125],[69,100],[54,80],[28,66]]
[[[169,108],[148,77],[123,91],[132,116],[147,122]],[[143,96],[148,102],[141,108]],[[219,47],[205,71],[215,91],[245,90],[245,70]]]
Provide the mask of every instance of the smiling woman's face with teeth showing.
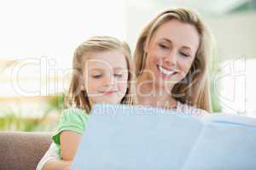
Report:
[[146,71],[158,87],[172,89],[187,75],[199,43],[195,26],[178,20],[169,20],[154,32],[144,50],[148,53]]

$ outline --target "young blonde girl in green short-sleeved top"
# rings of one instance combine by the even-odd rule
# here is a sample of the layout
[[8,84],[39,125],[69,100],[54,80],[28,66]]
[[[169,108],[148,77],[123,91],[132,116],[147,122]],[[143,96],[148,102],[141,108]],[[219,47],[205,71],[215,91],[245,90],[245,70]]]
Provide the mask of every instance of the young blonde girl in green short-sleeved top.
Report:
[[[46,154],[37,169],[69,169],[92,105],[132,105],[133,76],[131,51],[125,42],[114,37],[91,37],[79,45],[73,56],[73,77],[66,99],[70,108],[62,111],[50,146],[57,152]],[[61,161],[50,159],[56,157],[55,153]]]

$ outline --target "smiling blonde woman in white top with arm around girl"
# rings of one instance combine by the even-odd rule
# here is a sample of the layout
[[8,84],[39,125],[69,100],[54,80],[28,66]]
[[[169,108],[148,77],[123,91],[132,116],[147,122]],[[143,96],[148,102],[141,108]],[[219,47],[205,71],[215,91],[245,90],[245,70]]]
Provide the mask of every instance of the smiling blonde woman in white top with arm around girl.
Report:
[[[210,108],[207,69],[211,37],[200,17],[186,8],[167,9],[151,20],[135,50],[139,105],[203,116]],[[69,169],[55,145],[37,169]]]

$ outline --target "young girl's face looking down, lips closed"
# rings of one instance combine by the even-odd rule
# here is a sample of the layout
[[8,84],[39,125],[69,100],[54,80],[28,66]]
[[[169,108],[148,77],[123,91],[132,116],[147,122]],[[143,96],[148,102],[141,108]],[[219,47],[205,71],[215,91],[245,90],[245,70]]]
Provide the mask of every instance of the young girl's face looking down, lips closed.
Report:
[[85,90],[90,102],[118,104],[128,87],[125,55],[119,50],[87,54]]

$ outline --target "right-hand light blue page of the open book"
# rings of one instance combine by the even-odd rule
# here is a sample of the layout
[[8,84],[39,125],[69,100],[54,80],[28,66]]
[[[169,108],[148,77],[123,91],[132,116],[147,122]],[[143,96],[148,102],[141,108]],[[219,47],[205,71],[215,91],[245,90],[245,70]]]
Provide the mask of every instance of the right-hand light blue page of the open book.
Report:
[[216,169],[256,169],[255,126],[234,119],[206,124],[183,170]]

